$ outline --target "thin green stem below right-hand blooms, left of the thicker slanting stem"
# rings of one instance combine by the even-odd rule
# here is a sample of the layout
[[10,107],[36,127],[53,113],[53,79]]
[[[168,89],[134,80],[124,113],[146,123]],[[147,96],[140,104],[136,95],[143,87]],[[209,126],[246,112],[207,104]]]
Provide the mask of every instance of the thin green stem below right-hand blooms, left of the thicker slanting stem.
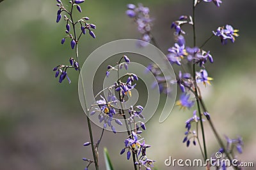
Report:
[[204,124],[202,120],[202,114],[201,114],[201,108],[200,108],[200,96],[198,96],[198,90],[197,90],[197,83],[196,83],[196,74],[195,74],[195,64],[193,64],[193,77],[194,77],[194,85],[195,85],[195,97],[196,97],[196,105],[198,108],[198,115],[200,118],[200,126],[202,130],[202,138],[203,138],[203,145],[204,145],[204,159],[207,160],[207,150],[206,150],[206,142],[205,142],[205,133],[204,133]]

